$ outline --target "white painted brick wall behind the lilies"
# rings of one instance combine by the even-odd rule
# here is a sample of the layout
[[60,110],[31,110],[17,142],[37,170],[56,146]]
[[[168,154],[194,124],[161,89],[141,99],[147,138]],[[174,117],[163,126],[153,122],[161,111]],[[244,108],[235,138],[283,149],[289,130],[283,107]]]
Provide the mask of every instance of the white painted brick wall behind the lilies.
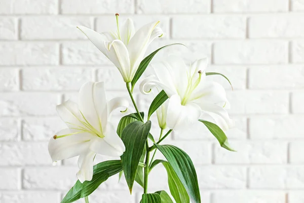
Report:
[[[202,202],[303,203],[303,0],[0,0],[0,202],[60,202],[73,185],[76,159],[52,166],[48,155],[49,138],[64,127],[55,106],[77,99],[89,80],[105,81],[109,98],[126,95],[116,68],[75,28],[110,29],[115,13],[136,27],[161,20],[167,35],[149,52],[183,43],[188,50],[168,50],[189,60],[206,55],[208,71],[233,83],[234,91],[213,77],[231,100],[237,128],[227,136],[238,152],[220,148],[199,124],[169,139],[191,155]],[[136,95],[147,110],[151,98]],[[164,169],[155,170],[151,192],[168,188]],[[129,195],[111,177],[90,202],[135,203],[140,192]]]

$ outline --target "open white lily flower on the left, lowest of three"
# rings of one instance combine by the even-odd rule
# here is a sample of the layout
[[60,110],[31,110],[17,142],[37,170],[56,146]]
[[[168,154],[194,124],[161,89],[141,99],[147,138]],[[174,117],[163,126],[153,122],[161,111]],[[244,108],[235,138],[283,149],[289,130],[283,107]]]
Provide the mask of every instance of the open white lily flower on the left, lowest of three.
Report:
[[79,155],[79,181],[92,180],[96,154],[119,157],[125,151],[125,145],[108,117],[113,110],[128,106],[129,102],[123,98],[107,101],[103,82],[85,83],[79,93],[79,105],[67,100],[57,106],[57,112],[68,128],[50,139],[52,160]]

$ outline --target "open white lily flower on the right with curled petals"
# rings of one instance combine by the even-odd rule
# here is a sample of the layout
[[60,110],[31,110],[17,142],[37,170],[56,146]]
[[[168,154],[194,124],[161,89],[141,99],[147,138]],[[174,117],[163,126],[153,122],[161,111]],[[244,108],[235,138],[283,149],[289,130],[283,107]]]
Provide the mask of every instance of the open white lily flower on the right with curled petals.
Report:
[[169,96],[166,122],[170,129],[188,129],[199,118],[217,124],[224,131],[234,125],[224,109],[229,107],[224,88],[206,80],[207,63],[207,58],[203,58],[187,66],[181,58],[171,55],[151,65],[155,75],[141,82],[142,93],[159,86]]

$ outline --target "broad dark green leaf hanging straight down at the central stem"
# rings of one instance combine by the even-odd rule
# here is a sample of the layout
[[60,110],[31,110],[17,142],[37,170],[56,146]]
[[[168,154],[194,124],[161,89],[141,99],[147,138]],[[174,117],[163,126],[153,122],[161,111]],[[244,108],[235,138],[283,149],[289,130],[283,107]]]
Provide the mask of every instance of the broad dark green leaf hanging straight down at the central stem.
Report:
[[147,121],[146,123],[134,121],[128,124],[122,133],[122,141],[126,146],[126,151],[121,156],[121,159],[130,193],[132,193],[138,163],[143,153],[150,128],[151,121]]

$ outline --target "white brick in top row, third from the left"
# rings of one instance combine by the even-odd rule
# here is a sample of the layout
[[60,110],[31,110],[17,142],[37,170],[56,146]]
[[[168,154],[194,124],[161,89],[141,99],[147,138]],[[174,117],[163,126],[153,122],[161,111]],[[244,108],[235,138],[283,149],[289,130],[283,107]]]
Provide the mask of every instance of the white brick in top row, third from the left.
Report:
[[168,13],[210,13],[210,1],[186,1],[181,0],[175,2],[174,0],[162,2],[161,0],[157,1],[148,1],[148,0],[139,0],[136,5],[137,13],[144,14],[168,14]]

